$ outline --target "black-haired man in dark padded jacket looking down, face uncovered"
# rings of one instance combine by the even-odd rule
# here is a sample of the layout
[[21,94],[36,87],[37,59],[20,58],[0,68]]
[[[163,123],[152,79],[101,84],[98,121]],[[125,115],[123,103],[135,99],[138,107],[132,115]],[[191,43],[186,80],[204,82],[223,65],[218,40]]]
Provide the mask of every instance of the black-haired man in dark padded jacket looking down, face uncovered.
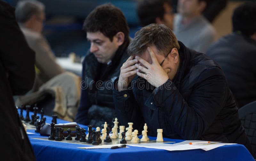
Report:
[[81,101],[76,122],[101,126],[116,117],[113,81],[128,58],[129,28],[122,11],[111,4],[96,7],[84,21],[91,43],[83,61]]

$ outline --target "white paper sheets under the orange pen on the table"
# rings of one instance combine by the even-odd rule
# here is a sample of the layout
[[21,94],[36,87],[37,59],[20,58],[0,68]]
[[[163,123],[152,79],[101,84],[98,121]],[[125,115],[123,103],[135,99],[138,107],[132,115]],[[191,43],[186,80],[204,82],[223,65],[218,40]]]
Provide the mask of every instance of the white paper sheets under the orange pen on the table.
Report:
[[[189,142],[190,143],[190,142]],[[149,144],[149,145],[148,145]],[[232,145],[233,143],[214,143],[214,144],[207,144],[207,145],[201,145],[201,144],[193,144],[190,145],[188,143],[186,144],[166,144],[166,143],[159,143],[157,146],[152,145],[152,143],[148,144],[130,144],[129,146],[137,146],[137,147],[144,147],[144,148],[154,148],[154,149],[163,149],[168,151],[175,151],[175,150],[192,150],[192,149],[202,149],[205,151],[212,150],[214,148],[218,148],[223,145]],[[156,143],[155,143],[156,145]]]

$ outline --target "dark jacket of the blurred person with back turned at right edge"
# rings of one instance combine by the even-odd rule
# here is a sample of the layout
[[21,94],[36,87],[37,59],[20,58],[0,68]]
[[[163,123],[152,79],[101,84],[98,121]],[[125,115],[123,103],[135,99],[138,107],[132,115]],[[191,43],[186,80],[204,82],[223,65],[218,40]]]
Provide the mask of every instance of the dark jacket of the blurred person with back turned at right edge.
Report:
[[238,33],[220,38],[206,54],[223,69],[237,106],[256,101],[256,41]]

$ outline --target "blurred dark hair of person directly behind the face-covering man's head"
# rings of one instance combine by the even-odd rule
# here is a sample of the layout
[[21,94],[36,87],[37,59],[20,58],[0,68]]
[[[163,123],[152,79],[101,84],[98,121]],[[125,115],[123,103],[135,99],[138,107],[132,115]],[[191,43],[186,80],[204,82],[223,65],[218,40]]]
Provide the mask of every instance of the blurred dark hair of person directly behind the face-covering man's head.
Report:
[[169,0],[142,0],[138,3],[137,14],[141,26],[156,23],[156,17],[164,18],[164,3],[172,6]]

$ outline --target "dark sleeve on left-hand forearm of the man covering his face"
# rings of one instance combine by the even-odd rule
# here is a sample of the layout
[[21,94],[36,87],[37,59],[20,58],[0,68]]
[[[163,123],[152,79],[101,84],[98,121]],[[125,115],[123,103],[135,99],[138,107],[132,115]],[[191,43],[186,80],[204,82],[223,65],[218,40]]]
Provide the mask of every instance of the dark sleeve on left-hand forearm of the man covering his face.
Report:
[[[114,84],[118,78],[114,81]],[[132,89],[119,92],[113,89],[113,99],[116,108],[116,115],[121,125],[127,126],[128,122],[133,122],[133,129],[141,129],[144,126],[142,114],[139,105],[134,98]]]

